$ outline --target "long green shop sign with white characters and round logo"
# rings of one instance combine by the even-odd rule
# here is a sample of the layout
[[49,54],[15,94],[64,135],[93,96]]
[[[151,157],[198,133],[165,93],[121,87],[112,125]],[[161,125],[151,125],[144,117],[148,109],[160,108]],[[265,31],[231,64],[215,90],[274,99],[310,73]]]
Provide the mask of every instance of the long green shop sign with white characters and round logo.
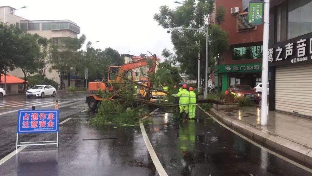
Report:
[[212,71],[216,73],[262,72],[262,63],[244,63],[230,65],[215,65]]

